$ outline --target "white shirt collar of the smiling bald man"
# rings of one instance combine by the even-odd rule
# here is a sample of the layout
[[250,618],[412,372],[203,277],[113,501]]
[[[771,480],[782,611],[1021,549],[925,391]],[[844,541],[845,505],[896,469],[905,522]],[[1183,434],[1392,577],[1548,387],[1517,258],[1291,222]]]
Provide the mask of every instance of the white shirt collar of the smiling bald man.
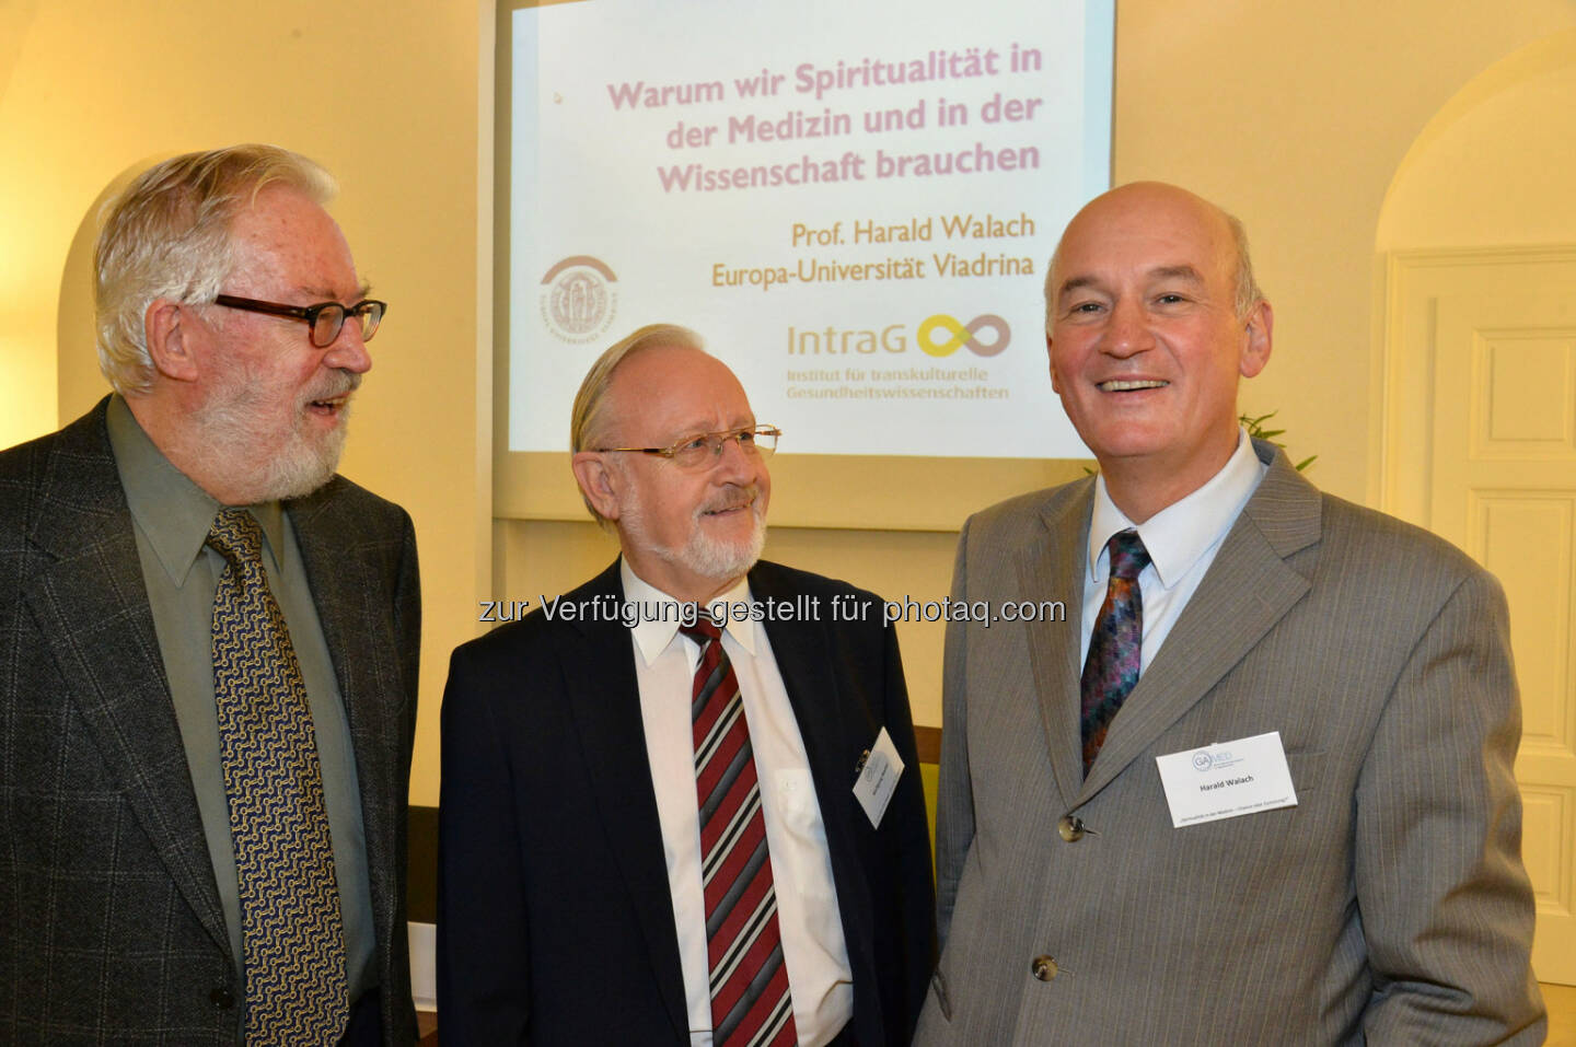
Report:
[[1089,581],[1098,584],[1110,570],[1105,546],[1111,535],[1135,529],[1149,551],[1160,584],[1171,589],[1193,570],[1204,553],[1226,537],[1267,471],[1269,466],[1253,453],[1247,430],[1239,428],[1237,449],[1220,472],[1143,524],[1135,524],[1116,507],[1105,490],[1103,475],[1095,479],[1094,512],[1089,518]]

